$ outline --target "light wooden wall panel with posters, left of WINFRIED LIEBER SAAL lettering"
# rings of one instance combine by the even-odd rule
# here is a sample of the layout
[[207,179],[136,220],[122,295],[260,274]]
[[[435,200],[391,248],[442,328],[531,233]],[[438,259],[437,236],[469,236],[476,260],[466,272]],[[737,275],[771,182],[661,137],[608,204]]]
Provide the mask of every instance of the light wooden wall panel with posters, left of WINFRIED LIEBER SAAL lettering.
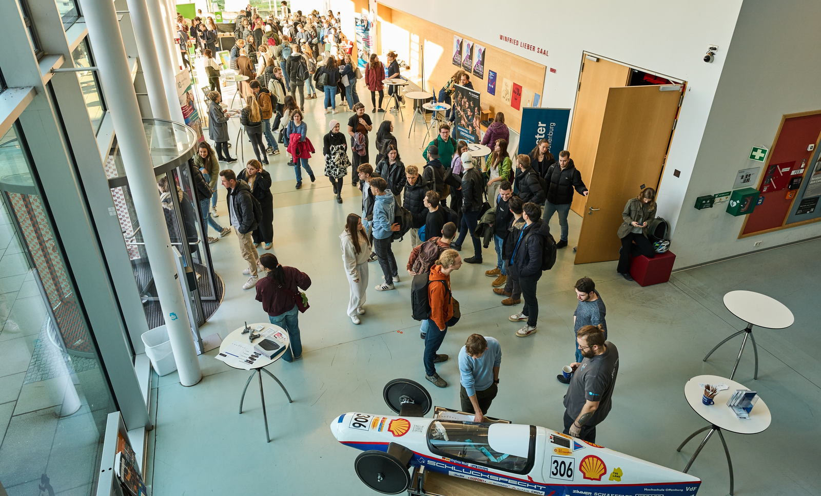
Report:
[[[518,131],[521,127],[521,108],[539,106],[536,103],[528,105],[525,103],[526,99],[534,99],[534,95],[542,94],[547,70],[547,67],[542,64],[506,50],[488,46],[483,39],[472,39],[381,3],[378,4],[378,33],[381,36],[382,52],[380,55],[388,53],[388,50],[396,52],[399,60],[406,61],[410,66],[410,69],[401,71],[402,76],[406,76],[408,80],[420,86],[424,79],[424,90],[428,93],[435,90],[438,95],[447,80],[460,69],[452,62],[453,37],[458,36],[464,40],[463,50],[465,42],[472,45],[474,59],[479,53],[477,47],[484,48],[484,78],[479,78],[473,71],[470,71],[470,82],[474,90],[481,92],[482,104],[489,103],[492,116],[497,112],[504,113],[505,124],[511,130]],[[422,47],[424,57],[424,75],[422,74],[422,63],[419,60],[420,47]],[[384,59],[382,60],[384,63]],[[489,71],[496,73],[495,94],[488,93]],[[518,102],[516,102],[516,97],[508,100],[507,103],[503,100],[502,82],[505,80],[511,81],[511,92],[517,86],[519,87]]]

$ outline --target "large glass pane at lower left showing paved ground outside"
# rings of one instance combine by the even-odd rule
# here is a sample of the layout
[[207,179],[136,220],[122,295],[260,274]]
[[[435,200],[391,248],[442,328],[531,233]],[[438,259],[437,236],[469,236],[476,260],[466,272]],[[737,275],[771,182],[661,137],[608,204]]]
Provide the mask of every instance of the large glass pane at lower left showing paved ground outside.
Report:
[[90,495],[117,408],[19,132],[0,140],[0,480]]

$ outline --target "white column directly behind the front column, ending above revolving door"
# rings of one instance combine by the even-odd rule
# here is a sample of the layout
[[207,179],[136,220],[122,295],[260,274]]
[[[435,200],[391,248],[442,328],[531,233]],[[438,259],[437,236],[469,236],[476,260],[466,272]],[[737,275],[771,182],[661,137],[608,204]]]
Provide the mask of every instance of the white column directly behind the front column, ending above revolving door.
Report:
[[131,14],[131,25],[134,26],[134,38],[140,53],[140,65],[143,67],[145,87],[151,103],[151,113],[155,119],[171,119],[170,104],[179,106],[179,100],[168,102],[163,88],[163,73],[159,68],[157,49],[154,48],[154,34],[151,32],[149,9],[144,0],[128,0],[128,12]]

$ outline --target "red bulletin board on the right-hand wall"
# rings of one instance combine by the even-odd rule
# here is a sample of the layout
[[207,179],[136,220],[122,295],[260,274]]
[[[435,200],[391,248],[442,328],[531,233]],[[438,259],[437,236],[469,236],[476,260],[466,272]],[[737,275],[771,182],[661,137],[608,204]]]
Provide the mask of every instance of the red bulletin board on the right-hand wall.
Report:
[[759,204],[745,215],[739,238],[821,220],[819,141],[821,110],[782,117],[760,173]]

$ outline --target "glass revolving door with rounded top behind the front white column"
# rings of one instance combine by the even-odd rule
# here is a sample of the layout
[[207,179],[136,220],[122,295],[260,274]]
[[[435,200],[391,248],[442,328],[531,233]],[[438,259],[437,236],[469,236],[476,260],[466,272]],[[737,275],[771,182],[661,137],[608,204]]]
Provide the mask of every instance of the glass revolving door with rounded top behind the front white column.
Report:
[[[188,296],[186,306],[191,330],[197,351],[202,353],[199,327],[217,310],[225,287],[213,269],[207,241],[208,224],[203,222],[203,211],[191,177],[190,161],[198,145],[197,136],[188,126],[160,119],[143,119],[143,127],[151,150],[168,235],[178,260],[181,286]],[[165,320],[116,138],[108,154],[105,172],[145,318],[149,328],[156,328],[165,324]]]

